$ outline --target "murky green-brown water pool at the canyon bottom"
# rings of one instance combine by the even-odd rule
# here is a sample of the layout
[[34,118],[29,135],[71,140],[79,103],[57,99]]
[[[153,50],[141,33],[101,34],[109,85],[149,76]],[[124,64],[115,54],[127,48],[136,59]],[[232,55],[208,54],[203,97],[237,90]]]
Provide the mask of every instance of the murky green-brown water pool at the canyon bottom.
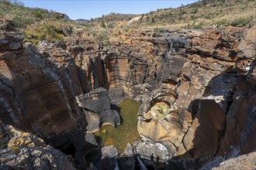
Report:
[[116,128],[106,125],[94,133],[101,147],[114,145],[117,151],[122,153],[127,143],[133,144],[134,141],[140,139],[137,131],[137,113],[139,108],[140,104],[130,99],[125,99],[118,106],[112,108],[119,111],[121,124],[116,126]]

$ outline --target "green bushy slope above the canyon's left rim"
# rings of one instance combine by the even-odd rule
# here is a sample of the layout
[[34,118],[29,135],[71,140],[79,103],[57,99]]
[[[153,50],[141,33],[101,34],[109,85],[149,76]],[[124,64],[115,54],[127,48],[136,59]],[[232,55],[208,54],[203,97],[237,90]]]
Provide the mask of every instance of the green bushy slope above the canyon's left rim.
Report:
[[0,16],[12,19],[16,29],[25,33],[25,42],[61,41],[64,36],[81,36],[85,26],[69,20],[60,12],[28,8],[18,0],[0,0]]

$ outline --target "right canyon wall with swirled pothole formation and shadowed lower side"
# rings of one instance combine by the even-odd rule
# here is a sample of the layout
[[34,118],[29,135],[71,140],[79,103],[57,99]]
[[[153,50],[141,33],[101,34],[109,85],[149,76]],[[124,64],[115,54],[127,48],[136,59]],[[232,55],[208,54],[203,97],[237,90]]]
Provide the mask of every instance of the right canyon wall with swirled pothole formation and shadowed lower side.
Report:
[[[161,75],[158,89],[173,90],[171,100],[154,97],[157,90],[144,97],[138,114],[140,135],[163,144],[170,157],[184,160],[174,158],[168,168],[199,168],[209,158],[224,156],[225,151],[254,150],[255,29],[188,32],[192,38],[182,55],[187,60],[176,65],[176,72]],[[168,51],[170,59],[182,57],[175,49]]]

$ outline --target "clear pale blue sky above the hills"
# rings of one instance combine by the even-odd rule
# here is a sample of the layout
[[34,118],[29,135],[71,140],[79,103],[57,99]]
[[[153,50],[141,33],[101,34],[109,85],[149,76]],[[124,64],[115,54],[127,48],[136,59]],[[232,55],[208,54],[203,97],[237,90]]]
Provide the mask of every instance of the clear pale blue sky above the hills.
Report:
[[198,0],[21,0],[28,7],[46,8],[67,14],[71,19],[91,19],[111,12],[123,14],[143,14],[157,8],[176,8]]

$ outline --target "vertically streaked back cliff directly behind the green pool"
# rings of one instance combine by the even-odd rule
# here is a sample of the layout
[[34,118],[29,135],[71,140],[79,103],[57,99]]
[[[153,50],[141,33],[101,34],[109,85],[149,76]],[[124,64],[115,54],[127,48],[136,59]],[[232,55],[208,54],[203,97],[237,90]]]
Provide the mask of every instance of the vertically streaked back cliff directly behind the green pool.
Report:
[[[135,98],[159,85],[162,66],[157,63],[162,62],[168,41],[140,33],[144,32],[117,33],[119,45],[108,47],[90,37],[64,39],[64,49],[78,66],[84,93],[104,87],[112,104],[117,104],[123,97]],[[125,42],[132,37],[133,41]]]

